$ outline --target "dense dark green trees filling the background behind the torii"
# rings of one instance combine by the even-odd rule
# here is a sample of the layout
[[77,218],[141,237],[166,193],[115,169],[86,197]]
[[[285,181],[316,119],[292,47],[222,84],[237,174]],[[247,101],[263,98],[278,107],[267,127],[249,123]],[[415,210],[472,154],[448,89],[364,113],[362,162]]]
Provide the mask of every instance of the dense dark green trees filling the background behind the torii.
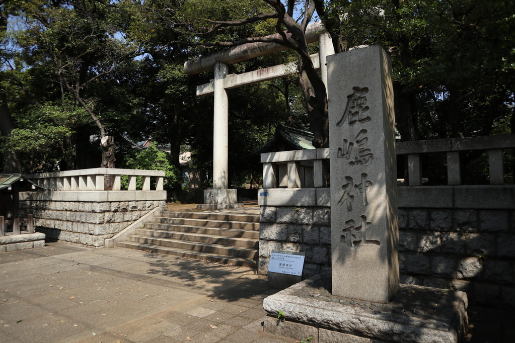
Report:
[[212,101],[195,88],[212,73],[187,76],[183,63],[246,42],[289,50],[231,73],[297,60],[299,75],[229,92],[232,176],[280,123],[328,146],[327,95],[309,57],[317,43],[304,35],[315,20],[336,52],[390,53],[402,140],[515,132],[513,2],[0,0],[4,170],[73,169],[105,136],[118,151],[126,138],[167,143],[176,167],[186,145],[208,168]]

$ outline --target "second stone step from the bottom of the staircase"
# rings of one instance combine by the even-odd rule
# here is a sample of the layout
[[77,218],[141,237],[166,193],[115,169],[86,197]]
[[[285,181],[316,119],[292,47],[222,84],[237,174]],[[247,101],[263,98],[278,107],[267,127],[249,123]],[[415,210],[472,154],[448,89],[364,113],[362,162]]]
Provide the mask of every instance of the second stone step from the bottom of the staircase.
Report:
[[226,246],[221,244],[188,242],[166,238],[152,238],[148,236],[141,236],[139,234],[132,234],[128,236],[127,239],[135,243],[200,251],[206,252],[208,254],[225,255],[229,257],[244,257],[249,259],[258,258],[258,250],[255,248],[253,249],[237,246]]

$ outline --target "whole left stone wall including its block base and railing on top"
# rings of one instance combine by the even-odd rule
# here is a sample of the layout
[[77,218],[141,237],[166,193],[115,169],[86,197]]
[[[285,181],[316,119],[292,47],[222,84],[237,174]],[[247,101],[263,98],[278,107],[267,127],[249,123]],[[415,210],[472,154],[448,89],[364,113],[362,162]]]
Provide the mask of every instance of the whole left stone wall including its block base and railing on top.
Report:
[[[48,239],[101,246],[166,205],[164,171],[93,168],[24,176],[46,190],[20,192],[20,211],[33,213],[37,230]],[[128,177],[127,190],[122,189],[122,176]],[[105,187],[108,177],[111,190]],[[143,178],[140,187],[138,177]]]

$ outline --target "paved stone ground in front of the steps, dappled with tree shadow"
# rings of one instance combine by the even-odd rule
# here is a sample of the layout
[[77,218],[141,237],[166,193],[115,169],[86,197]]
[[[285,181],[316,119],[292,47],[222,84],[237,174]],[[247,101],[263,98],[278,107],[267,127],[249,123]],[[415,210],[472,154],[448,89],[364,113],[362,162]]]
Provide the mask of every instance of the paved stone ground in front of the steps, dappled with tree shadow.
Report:
[[[49,243],[0,254],[0,341],[293,342],[262,330],[274,292],[245,267]],[[513,312],[469,318],[468,342],[515,341]]]

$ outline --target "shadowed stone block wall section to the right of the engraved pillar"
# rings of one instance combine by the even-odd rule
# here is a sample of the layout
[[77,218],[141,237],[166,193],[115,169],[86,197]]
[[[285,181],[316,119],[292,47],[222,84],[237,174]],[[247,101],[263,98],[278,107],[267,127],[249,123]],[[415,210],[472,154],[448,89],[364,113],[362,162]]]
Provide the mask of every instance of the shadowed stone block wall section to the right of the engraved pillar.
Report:
[[402,283],[515,308],[515,211],[399,209]]

